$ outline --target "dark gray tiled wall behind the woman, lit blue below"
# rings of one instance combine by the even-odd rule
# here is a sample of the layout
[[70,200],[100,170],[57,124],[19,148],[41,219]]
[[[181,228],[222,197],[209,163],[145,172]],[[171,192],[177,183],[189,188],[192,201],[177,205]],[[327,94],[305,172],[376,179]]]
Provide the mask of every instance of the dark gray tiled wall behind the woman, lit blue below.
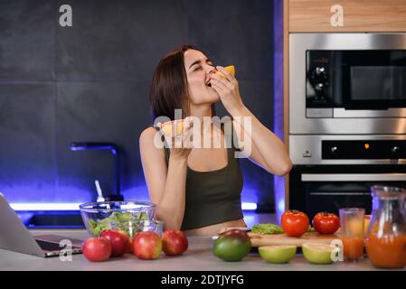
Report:
[[[63,4],[72,27],[59,25]],[[147,199],[138,135],[151,123],[156,63],[180,43],[234,64],[246,106],[272,127],[272,17],[270,0],[0,1],[0,191],[12,201],[93,200],[96,178],[114,191],[110,154],[69,150],[113,142],[121,191]],[[272,176],[241,164],[243,200],[272,205]]]

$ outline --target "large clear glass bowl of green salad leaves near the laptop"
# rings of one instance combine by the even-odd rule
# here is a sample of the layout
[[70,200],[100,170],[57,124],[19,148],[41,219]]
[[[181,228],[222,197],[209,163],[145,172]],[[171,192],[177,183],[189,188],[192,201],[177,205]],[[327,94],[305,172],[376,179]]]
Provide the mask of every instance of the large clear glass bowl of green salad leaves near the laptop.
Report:
[[89,233],[99,236],[112,223],[154,219],[156,204],[148,201],[101,201],[81,204],[80,215]]

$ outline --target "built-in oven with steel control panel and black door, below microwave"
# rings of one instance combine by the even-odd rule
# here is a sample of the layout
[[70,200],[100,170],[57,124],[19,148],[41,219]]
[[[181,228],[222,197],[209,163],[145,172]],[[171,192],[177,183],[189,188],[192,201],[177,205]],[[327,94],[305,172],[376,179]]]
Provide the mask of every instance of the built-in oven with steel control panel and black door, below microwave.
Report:
[[290,135],[289,208],[371,211],[370,187],[406,188],[406,135]]

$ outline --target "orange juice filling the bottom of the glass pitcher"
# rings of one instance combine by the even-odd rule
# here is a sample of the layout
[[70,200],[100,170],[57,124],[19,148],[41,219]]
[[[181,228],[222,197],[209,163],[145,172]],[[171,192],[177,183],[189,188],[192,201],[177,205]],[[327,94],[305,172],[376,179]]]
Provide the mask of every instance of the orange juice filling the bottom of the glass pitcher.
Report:
[[406,235],[368,234],[365,238],[366,253],[373,266],[402,268],[406,266]]

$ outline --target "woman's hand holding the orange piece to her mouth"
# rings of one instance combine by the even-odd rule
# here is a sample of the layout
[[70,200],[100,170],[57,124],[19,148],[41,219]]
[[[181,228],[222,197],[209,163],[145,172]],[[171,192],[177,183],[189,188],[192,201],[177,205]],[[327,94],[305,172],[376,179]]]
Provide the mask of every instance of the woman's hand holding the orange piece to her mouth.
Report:
[[243,107],[238,81],[232,76],[229,70],[224,69],[222,66],[217,66],[216,69],[221,71],[227,79],[212,73],[210,75],[212,79],[210,83],[212,84],[212,88],[219,94],[225,109],[227,109],[232,116],[233,112]]

